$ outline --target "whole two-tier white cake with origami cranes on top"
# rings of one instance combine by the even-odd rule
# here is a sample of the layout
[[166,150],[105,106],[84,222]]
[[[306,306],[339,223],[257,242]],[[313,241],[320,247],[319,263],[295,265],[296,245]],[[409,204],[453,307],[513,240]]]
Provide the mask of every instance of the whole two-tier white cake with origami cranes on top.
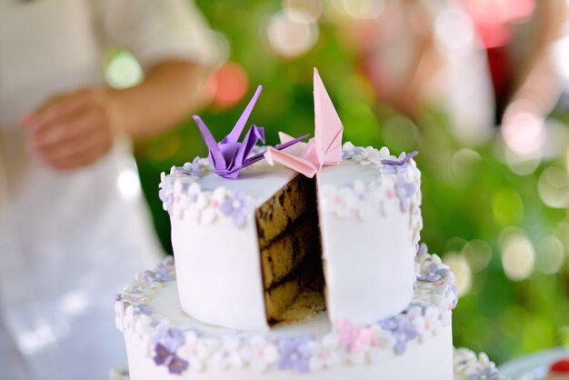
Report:
[[342,145],[317,72],[314,139],[255,152],[261,128],[236,138],[259,92],[219,144],[196,118],[209,159],[162,177],[175,265],[115,307],[131,379],[452,380],[454,275],[418,244],[415,153]]

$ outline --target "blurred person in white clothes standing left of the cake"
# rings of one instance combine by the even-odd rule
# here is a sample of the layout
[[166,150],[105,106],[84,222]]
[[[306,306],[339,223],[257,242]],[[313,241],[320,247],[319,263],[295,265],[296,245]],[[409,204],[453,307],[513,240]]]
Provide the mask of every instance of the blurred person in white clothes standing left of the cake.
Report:
[[[128,142],[199,105],[208,36],[186,0],[0,0],[1,380],[126,363],[114,295],[161,255],[120,191],[136,185]],[[109,46],[134,53],[140,85],[105,87]]]

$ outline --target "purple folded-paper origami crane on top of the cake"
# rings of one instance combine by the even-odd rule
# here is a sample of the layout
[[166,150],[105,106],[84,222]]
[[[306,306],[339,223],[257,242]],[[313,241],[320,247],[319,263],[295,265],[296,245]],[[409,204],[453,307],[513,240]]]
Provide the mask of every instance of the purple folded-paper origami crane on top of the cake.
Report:
[[[239,117],[239,120],[237,120],[231,133],[226,135],[219,143],[215,142],[214,136],[200,116],[194,115],[195,124],[200,128],[205,145],[207,145],[207,149],[209,150],[209,162],[214,167],[213,172],[216,175],[235,179],[239,176],[241,169],[248,165],[253,165],[264,158],[265,152],[251,157],[248,156],[259,140],[265,143],[265,129],[263,127],[251,125],[243,142],[239,142],[239,137],[243,133],[245,124],[262,90],[263,86],[259,85],[255,91],[255,95],[253,95],[253,98],[245,107],[245,111],[241,117]],[[281,145],[276,145],[275,149],[282,150],[304,140],[306,137],[308,137],[308,135],[295,138]]]

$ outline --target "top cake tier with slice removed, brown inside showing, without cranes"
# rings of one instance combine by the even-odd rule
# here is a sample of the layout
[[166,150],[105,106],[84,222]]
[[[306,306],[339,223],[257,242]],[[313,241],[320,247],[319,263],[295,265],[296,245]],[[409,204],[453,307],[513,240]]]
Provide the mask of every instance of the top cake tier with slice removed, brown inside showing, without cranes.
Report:
[[322,271],[333,323],[401,312],[413,295],[420,172],[387,148],[346,143],[343,158],[315,183],[265,162],[225,179],[200,158],[163,175],[185,312],[265,330]]

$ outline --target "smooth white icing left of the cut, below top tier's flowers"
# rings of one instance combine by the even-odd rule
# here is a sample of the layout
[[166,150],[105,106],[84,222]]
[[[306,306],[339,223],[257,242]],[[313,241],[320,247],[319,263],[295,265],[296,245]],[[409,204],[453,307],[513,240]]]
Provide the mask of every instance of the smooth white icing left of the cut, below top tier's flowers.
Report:
[[253,214],[241,229],[227,218],[215,225],[173,218],[172,246],[185,312],[211,325],[268,329],[257,242]]

